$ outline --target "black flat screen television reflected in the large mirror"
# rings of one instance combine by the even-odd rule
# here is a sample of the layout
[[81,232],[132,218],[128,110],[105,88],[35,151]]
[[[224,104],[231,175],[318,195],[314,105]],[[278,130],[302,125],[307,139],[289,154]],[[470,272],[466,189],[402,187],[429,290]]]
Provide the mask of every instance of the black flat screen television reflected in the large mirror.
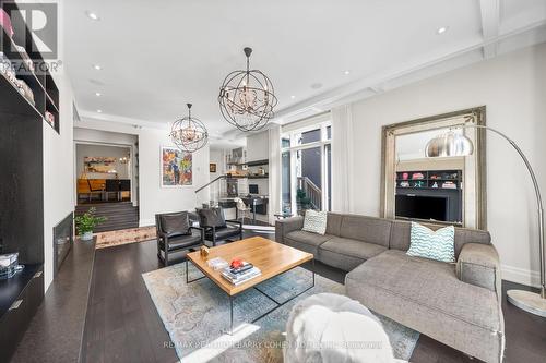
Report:
[[448,198],[396,194],[396,217],[448,221]]

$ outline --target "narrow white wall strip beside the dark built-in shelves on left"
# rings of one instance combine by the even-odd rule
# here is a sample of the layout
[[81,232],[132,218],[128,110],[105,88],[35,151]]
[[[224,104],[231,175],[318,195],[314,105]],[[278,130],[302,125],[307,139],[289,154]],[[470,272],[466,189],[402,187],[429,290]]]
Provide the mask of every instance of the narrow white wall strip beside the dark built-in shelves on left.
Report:
[[66,75],[54,74],[60,95],[60,134],[44,122],[44,278],[54,279],[54,227],[74,209],[73,92]]

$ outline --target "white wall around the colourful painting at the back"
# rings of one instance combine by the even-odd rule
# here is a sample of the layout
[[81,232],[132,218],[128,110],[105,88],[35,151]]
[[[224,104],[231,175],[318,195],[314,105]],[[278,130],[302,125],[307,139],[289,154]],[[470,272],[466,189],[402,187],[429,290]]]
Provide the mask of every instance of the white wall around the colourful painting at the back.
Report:
[[[139,135],[140,170],[140,225],[155,223],[157,213],[190,210],[198,206],[195,189],[206,184],[209,173],[209,146],[193,153],[193,185],[161,187],[161,147],[173,146],[165,130],[142,129]],[[205,199],[209,197],[206,196]]]

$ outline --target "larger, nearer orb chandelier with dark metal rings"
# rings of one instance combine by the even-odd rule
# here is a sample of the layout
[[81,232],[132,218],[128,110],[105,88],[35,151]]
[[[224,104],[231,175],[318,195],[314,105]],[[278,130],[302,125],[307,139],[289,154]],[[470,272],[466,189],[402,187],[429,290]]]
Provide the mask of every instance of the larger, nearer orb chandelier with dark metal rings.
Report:
[[245,48],[247,70],[229,73],[219,88],[219,110],[227,122],[241,131],[262,129],[273,118],[277,104],[273,84],[259,70],[250,70],[251,48]]

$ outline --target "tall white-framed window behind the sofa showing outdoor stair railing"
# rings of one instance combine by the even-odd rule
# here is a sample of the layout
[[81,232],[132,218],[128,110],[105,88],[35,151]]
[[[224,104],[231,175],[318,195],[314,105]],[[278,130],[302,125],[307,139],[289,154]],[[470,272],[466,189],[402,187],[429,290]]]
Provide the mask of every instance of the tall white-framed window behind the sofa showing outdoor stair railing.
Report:
[[331,209],[331,129],[324,121],[282,135],[283,213]]

